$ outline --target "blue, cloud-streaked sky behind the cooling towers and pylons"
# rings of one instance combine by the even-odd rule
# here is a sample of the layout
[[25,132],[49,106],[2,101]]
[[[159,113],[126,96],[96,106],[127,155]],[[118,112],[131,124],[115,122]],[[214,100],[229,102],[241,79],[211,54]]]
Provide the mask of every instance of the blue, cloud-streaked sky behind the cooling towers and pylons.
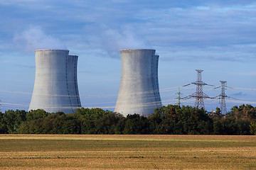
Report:
[[[121,77],[119,50],[153,48],[159,58],[164,105],[176,103],[178,86],[227,81],[228,110],[256,106],[256,2],[170,0],[1,0],[1,111],[28,110],[37,49],[68,49],[78,55],[83,107],[114,110]],[[208,96],[220,89],[203,87]],[[181,87],[181,96],[196,86]],[[181,101],[194,106],[194,98]],[[205,100],[208,111],[218,100]]]

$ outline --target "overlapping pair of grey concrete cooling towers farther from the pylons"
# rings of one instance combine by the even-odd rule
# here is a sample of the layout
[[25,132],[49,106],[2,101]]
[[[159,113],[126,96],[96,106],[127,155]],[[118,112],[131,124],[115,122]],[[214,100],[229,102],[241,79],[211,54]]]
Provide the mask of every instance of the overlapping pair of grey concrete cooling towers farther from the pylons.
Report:
[[36,77],[29,111],[74,113],[81,107],[78,56],[68,50],[36,50]]

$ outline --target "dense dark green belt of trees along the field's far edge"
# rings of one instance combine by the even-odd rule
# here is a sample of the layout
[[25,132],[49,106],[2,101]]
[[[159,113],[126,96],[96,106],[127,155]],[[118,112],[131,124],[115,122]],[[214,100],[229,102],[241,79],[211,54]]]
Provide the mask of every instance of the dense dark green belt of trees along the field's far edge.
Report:
[[227,115],[191,106],[162,106],[149,116],[127,115],[101,108],[79,108],[75,113],[35,111],[0,112],[2,134],[169,134],[256,135],[256,107],[234,106]]

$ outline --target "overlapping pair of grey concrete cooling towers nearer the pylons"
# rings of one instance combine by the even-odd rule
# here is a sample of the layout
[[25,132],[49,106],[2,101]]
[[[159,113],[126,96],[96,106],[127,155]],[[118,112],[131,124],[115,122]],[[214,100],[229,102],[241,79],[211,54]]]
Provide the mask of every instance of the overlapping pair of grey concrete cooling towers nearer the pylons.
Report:
[[114,111],[149,115],[161,107],[156,50],[121,50],[122,75]]

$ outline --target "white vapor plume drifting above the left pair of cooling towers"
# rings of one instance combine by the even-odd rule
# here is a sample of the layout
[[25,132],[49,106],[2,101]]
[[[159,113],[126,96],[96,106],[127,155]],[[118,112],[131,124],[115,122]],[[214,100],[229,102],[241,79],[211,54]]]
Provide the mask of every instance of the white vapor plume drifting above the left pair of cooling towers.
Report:
[[67,47],[51,35],[46,35],[39,26],[31,26],[22,33],[14,35],[14,45],[25,52],[32,52],[40,49],[60,49]]

